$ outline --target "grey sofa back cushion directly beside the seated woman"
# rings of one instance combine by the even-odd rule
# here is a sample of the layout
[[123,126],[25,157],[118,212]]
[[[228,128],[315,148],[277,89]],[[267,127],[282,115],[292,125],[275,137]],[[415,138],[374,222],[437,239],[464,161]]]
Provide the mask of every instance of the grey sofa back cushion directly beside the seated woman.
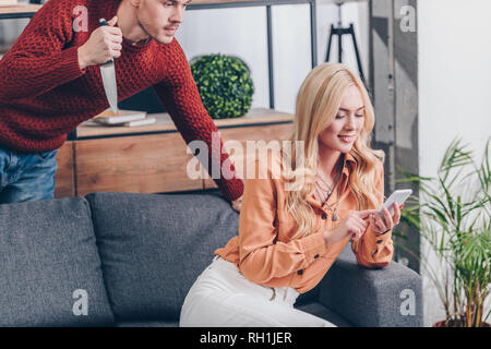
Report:
[[86,197],[119,322],[179,320],[185,294],[213,252],[238,232],[239,215],[215,194]]

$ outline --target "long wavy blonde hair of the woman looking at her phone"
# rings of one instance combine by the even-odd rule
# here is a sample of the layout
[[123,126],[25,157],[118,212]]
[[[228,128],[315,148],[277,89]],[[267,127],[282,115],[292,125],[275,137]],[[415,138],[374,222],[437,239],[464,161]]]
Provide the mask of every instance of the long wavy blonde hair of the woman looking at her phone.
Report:
[[[314,230],[315,214],[307,198],[315,190],[319,135],[334,121],[343,95],[351,85],[359,88],[363,99],[364,124],[350,151],[357,166],[348,178],[348,188],[356,197],[357,209],[379,206],[375,196],[375,167],[378,161],[384,161],[384,153],[370,147],[370,134],[375,121],[370,97],[361,80],[347,67],[323,63],[309,73],[298,92],[294,130],[288,136],[292,146],[283,148],[283,173],[285,183],[289,185],[286,205],[298,225],[294,239],[307,237]],[[302,142],[302,147],[295,146]],[[299,178],[302,180],[299,181]]]

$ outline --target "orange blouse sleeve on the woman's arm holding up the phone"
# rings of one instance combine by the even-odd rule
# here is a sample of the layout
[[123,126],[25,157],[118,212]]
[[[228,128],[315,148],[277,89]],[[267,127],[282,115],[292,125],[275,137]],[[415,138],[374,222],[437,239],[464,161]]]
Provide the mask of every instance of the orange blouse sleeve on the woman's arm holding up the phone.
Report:
[[[382,163],[378,165],[375,188],[379,206],[382,206],[384,202],[384,168]],[[369,225],[364,234],[358,241],[351,242],[351,250],[355,252],[358,264],[362,266],[368,268],[387,266],[394,253],[392,230],[379,234]]]

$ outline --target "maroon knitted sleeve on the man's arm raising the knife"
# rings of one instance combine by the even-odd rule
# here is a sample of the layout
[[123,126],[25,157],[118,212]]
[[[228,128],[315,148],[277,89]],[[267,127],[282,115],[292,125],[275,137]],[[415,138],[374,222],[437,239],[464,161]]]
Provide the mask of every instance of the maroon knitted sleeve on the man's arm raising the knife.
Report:
[[81,75],[73,35],[73,0],[48,1],[0,61],[0,99],[35,97]]

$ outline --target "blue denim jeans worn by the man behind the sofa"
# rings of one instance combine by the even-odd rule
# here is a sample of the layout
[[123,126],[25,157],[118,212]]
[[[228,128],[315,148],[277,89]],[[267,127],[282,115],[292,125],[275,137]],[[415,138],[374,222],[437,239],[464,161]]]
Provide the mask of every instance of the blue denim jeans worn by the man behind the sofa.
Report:
[[0,204],[53,197],[57,151],[17,153],[0,147]]

